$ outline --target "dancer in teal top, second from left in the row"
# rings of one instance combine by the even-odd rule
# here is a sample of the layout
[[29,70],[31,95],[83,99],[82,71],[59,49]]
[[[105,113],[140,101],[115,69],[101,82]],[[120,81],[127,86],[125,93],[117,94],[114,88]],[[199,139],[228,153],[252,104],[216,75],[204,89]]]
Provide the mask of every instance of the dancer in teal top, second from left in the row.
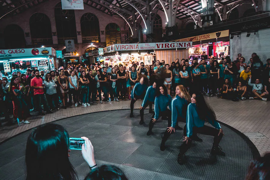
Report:
[[153,85],[149,86],[146,90],[146,94],[143,98],[143,103],[140,107],[140,116],[141,116],[140,125],[142,125],[144,123],[144,121],[143,121],[144,110],[148,105],[149,105],[149,113],[150,114],[155,113],[152,110],[152,104],[154,104],[155,97],[156,97],[156,87],[157,87],[157,83],[154,82]]

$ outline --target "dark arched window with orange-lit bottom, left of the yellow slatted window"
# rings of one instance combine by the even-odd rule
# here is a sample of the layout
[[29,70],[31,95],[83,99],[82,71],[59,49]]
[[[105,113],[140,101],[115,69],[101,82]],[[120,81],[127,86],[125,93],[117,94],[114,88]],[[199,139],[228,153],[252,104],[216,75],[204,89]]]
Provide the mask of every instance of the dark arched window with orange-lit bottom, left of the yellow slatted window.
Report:
[[97,16],[85,13],[81,17],[82,42],[100,42],[99,22]]

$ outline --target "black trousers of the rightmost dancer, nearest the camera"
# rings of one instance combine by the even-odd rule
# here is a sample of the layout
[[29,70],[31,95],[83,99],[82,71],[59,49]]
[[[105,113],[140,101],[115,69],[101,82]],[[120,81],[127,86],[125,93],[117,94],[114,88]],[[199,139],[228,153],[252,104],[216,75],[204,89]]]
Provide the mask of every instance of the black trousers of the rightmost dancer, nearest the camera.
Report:
[[[214,142],[213,142],[214,146],[217,146],[223,137],[223,134],[220,134],[218,136],[219,130],[215,128],[211,128],[206,125],[204,125],[201,128],[193,127],[193,132],[196,132],[199,134],[205,134],[208,136],[214,136]],[[187,134],[187,125],[185,125],[184,127],[184,136],[186,136],[186,134]],[[180,146],[179,153],[184,154],[185,152],[187,152],[187,150],[191,147],[191,144],[192,144],[192,140],[189,140],[187,144],[186,142],[183,142],[182,145]]]

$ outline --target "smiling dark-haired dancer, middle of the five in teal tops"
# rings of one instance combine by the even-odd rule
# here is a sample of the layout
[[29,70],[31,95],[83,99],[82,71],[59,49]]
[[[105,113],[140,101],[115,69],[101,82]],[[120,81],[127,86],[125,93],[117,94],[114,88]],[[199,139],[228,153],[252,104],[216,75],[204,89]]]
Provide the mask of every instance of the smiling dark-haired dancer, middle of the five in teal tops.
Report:
[[[149,131],[147,136],[152,134],[152,128],[155,122],[160,116],[166,116],[168,118],[168,127],[171,126],[171,116],[172,116],[172,97],[167,93],[167,88],[165,85],[158,87],[157,97],[155,98],[155,116],[151,119],[149,123]],[[169,106],[170,109],[167,109]]]

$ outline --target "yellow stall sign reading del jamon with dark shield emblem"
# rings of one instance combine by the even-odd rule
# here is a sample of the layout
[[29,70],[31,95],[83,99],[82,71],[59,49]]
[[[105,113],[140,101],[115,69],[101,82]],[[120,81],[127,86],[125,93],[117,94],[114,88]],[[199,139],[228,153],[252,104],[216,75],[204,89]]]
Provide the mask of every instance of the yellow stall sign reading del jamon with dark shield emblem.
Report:
[[225,31],[212,32],[209,34],[199,35],[199,36],[194,36],[194,37],[189,37],[189,38],[177,39],[175,41],[176,42],[186,42],[186,41],[195,42],[195,41],[203,41],[203,40],[215,39],[215,38],[224,38],[228,36],[229,36],[229,30],[225,30]]

